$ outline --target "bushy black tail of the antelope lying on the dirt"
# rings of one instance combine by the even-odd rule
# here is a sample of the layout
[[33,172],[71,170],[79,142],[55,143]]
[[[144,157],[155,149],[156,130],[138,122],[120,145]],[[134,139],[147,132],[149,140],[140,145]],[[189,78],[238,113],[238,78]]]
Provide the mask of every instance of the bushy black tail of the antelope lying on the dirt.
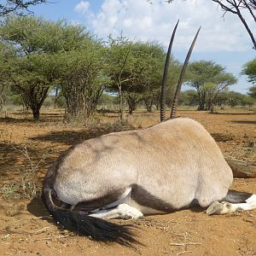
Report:
[[93,240],[104,242],[118,242],[121,245],[133,247],[139,243],[131,231],[131,225],[119,225],[110,223],[102,218],[90,217],[81,212],[74,212],[55,205],[51,193],[53,189],[44,186],[43,201],[53,218],[61,227],[73,232],[90,236]]

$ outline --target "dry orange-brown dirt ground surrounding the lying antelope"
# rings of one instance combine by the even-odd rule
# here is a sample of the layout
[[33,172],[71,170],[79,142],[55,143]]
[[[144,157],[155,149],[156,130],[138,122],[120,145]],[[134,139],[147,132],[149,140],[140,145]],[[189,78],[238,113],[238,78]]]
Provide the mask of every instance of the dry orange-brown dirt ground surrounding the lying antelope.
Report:
[[[255,113],[179,111],[178,115],[205,125],[224,155],[256,160]],[[38,165],[35,180],[40,188],[45,172],[61,151],[84,139],[124,129],[116,119],[116,114],[108,113],[86,128],[64,124],[58,111],[44,112],[38,123],[18,113],[0,118],[0,255],[256,255],[256,210],[208,217],[194,208],[127,221],[138,228],[137,239],[144,244],[133,249],[59,229],[39,195],[29,199],[35,192],[29,183],[34,181],[32,168]],[[137,112],[125,129],[156,122],[157,113]],[[236,179],[233,189],[256,194],[256,179]]]

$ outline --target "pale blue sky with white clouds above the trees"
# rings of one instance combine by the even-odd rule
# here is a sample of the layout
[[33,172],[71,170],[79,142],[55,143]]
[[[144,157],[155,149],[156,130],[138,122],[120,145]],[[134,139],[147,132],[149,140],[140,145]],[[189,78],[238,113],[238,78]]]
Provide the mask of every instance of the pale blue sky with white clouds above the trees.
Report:
[[[172,29],[179,19],[172,55],[184,61],[195,32],[201,26],[199,38],[190,61],[214,61],[233,73],[238,83],[230,90],[247,93],[252,84],[241,76],[241,67],[256,56],[253,43],[236,15],[223,11],[209,0],[49,0],[32,8],[34,15],[49,20],[68,20],[79,23],[96,34],[122,35],[141,41],[158,41],[167,47]],[[223,17],[224,15],[224,17]],[[256,24],[245,14],[253,32]],[[189,88],[185,88],[189,89]]]

